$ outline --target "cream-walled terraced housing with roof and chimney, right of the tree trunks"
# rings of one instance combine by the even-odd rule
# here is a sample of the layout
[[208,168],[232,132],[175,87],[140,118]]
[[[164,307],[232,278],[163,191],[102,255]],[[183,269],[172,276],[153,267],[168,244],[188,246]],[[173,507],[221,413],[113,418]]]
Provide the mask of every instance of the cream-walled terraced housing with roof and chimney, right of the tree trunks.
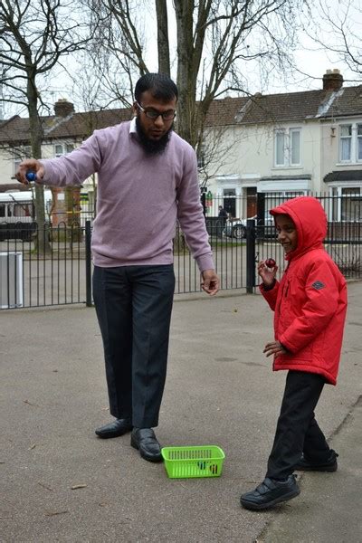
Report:
[[[361,217],[362,86],[344,87],[339,71],[327,71],[320,90],[214,102],[208,127],[206,142],[218,128],[228,149],[210,186],[233,216],[252,216],[257,193],[321,192],[346,196],[335,220],[348,219],[348,198]],[[232,208],[246,196],[249,209]]]

